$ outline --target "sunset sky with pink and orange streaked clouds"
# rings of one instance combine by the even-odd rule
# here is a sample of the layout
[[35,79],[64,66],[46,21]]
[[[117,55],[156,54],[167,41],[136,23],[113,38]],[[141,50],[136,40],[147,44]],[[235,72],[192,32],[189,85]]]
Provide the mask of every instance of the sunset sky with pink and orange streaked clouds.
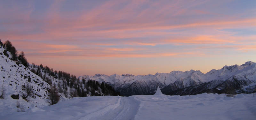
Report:
[[0,39],[29,63],[147,75],[256,62],[255,0],[2,0]]

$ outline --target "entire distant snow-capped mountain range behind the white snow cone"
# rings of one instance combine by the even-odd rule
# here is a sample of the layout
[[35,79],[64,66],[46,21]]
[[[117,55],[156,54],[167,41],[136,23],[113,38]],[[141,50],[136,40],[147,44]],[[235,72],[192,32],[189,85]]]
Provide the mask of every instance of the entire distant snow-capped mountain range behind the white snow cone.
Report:
[[154,94],[158,86],[164,94],[170,95],[223,93],[223,88],[227,86],[233,87],[237,93],[251,93],[256,85],[256,64],[249,61],[242,65],[224,66],[220,70],[213,69],[206,74],[190,70],[138,76],[96,74],[79,78],[109,83],[124,96]]

